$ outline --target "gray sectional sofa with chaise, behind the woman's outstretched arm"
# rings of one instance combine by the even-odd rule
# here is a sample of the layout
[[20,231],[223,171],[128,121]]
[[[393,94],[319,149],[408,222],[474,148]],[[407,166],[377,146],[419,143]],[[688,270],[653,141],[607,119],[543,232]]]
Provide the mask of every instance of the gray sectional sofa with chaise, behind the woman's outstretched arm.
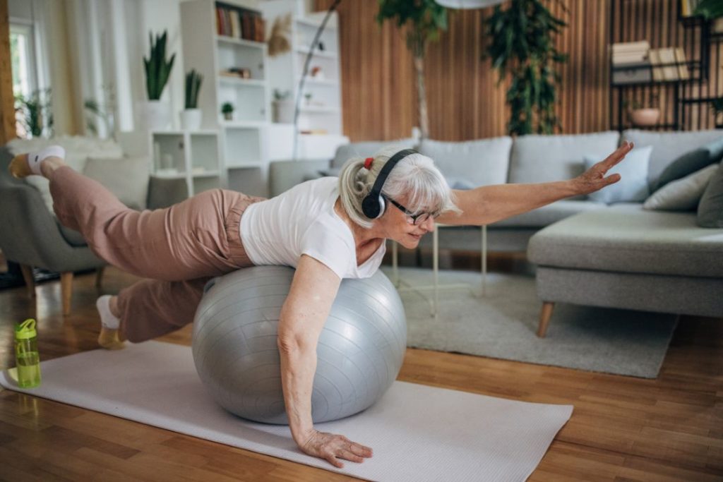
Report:
[[[415,147],[435,160],[450,186],[535,183],[573,178],[586,156],[602,158],[623,141],[651,146],[647,184],[656,186],[674,160],[723,139],[723,131],[646,132],[630,129],[569,135],[497,137],[469,142],[413,139],[342,146],[333,160],[278,162],[272,195],[309,178],[334,175],[348,158],[385,145]],[[723,154],[723,152],[721,152]],[[608,188],[609,189],[609,188]],[[479,228],[440,230],[440,246],[479,249]],[[723,317],[723,228],[700,228],[696,212],[652,211],[642,202],[604,204],[564,199],[489,225],[488,249],[525,251],[536,264],[544,336],[557,301],[613,308]],[[423,238],[421,246],[430,244]]]

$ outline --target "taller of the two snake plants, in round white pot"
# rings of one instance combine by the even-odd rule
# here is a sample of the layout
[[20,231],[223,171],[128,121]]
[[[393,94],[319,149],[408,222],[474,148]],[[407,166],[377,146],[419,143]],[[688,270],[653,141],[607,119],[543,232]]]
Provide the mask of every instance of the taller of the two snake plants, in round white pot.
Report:
[[143,57],[145,66],[145,87],[148,95],[148,101],[145,108],[142,108],[142,121],[152,130],[168,129],[171,126],[171,111],[168,103],[161,102],[163,89],[168,83],[168,77],[171,76],[176,54],[171,55],[171,59],[166,59],[166,44],[168,42],[168,32],[163,30],[163,35],[155,35],[148,33],[150,38],[150,53],[148,57]]

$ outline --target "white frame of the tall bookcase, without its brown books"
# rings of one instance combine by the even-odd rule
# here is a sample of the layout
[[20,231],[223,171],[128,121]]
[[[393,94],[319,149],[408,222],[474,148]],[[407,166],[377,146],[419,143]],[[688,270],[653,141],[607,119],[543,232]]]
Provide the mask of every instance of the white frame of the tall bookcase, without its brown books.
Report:
[[[218,136],[221,186],[265,196],[270,124],[268,49],[266,43],[218,35],[217,6],[249,10],[234,0],[180,3],[184,69],[196,69],[203,76],[198,107],[203,115],[202,129]],[[250,78],[222,73],[228,69],[247,69]],[[221,113],[227,102],[234,105],[231,120]],[[204,156],[205,152],[193,154]]]

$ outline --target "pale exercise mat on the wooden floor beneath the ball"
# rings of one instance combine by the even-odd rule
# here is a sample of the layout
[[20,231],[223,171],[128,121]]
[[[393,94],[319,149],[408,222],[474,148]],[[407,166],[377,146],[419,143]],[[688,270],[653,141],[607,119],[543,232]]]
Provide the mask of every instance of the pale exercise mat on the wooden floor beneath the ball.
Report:
[[316,428],[374,449],[343,469],[300,452],[287,426],[238,418],[206,394],[191,349],[145,342],[41,363],[43,382],[10,390],[77,405],[373,481],[524,481],[536,468],[572,405],[526,403],[420,384],[394,382],[371,408]]

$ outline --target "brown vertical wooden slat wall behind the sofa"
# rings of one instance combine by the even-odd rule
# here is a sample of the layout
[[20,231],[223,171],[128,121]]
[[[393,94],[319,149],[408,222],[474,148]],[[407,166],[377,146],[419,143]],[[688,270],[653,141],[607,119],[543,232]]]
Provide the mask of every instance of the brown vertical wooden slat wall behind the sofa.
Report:
[[[564,133],[607,130],[617,119],[617,111],[612,121],[609,111],[610,1],[624,4],[616,10],[614,25],[619,25],[624,15],[625,32],[621,38],[616,30],[615,38],[647,38],[657,48],[682,46],[683,35],[693,34],[677,22],[677,0],[546,0],[556,17],[568,22],[557,38],[558,50],[570,57],[560,69],[562,85],[557,90],[557,115]],[[316,0],[316,8],[326,9],[331,3]],[[390,22],[377,25],[377,9],[375,0],[344,0],[339,7],[344,131],[353,141],[406,137],[417,125],[414,69],[404,33]],[[506,133],[508,82],[497,86],[497,73],[489,60],[480,59],[482,21],[491,12],[491,8],[450,12],[448,32],[429,47],[425,68],[433,139],[479,139]],[[693,40],[685,43],[692,44]],[[694,49],[688,46],[688,59],[698,58]],[[714,74],[723,61],[716,45],[711,51]],[[638,89],[634,95],[643,98],[647,92],[649,89]],[[663,92],[661,100],[670,116],[672,87]],[[696,106],[694,110],[699,109]],[[684,128],[712,127],[709,117],[709,124],[696,121]]]

